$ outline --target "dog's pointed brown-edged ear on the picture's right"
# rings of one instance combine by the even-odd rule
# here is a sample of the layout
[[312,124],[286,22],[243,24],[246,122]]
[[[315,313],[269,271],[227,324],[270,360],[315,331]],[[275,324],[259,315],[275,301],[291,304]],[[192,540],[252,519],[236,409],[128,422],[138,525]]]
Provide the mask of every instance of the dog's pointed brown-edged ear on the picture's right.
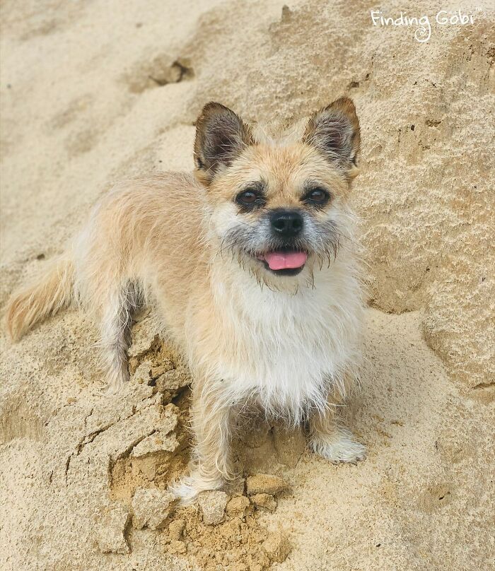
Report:
[[356,176],[361,135],[354,102],[347,97],[341,97],[328,107],[313,113],[306,126],[303,141],[317,148],[327,160],[345,170],[347,176]]

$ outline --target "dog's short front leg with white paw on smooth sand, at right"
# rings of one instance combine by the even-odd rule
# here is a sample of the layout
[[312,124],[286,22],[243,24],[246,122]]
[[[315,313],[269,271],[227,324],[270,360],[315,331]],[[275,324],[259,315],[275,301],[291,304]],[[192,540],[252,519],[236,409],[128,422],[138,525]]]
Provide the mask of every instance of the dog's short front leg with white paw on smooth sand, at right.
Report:
[[336,409],[337,405],[329,402],[325,411],[310,416],[310,449],[332,462],[355,464],[366,458],[366,447],[356,442],[352,432],[339,423]]

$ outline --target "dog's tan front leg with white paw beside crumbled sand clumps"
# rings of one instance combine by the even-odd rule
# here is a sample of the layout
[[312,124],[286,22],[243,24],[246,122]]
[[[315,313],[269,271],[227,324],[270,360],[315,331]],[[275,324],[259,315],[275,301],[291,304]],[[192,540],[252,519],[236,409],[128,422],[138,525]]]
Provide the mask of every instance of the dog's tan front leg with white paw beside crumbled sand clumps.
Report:
[[190,502],[204,490],[216,490],[235,477],[231,466],[232,401],[223,382],[197,383],[192,390],[191,428],[194,447],[190,475],[174,486],[182,502]]

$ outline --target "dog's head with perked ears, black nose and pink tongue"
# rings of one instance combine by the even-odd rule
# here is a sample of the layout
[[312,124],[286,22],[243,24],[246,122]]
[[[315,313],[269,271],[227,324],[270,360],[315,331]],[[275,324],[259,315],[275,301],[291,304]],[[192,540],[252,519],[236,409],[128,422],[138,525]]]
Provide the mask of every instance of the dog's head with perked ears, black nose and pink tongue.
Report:
[[308,281],[330,264],[347,236],[359,141],[349,98],[315,112],[297,139],[281,141],[256,135],[219,103],[206,105],[194,161],[219,254],[233,255],[266,283]]

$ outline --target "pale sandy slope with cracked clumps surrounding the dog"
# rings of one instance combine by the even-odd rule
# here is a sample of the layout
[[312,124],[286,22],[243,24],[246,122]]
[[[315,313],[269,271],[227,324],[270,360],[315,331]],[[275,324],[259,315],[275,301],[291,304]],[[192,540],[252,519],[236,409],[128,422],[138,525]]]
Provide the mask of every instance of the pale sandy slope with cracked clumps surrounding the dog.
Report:
[[[163,490],[187,442],[178,428],[172,456],[137,447],[170,399],[178,426],[187,422],[187,389],[153,389],[136,373],[105,400],[93,325],[65,312],[15,346],[0,339],[1,569],[259,571],[277,530],[291,544],[273,563],[281,571],[493,565],[493,3],[452,6],[474,23],[433,24],[424,43],[414,28],[373,28],[366,1],[283,4],[1,2],[0,303],[63,249],[113,181],[192,168],[204,102],[285,122],[350,95],[371,307],[347,416],[368,459],[334,466],[267,427],[238,454],[246,473],[290,484],[274,513],[251,505],[206,526],[177,510],[163,529],[136,529],[132,495]],[[388,3],[391,15],[431,20],[441,8]],[[138,349],[135,366],[165,358],[153,343]]]

